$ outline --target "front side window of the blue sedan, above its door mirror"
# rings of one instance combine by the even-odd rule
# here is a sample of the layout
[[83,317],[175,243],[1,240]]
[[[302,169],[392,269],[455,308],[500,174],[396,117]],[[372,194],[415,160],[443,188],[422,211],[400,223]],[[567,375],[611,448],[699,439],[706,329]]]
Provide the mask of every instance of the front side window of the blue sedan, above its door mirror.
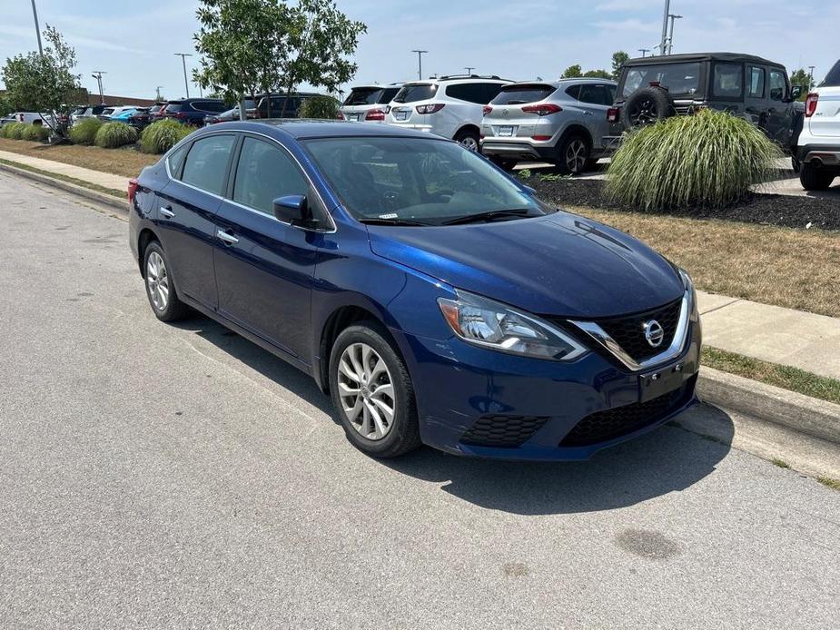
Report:
[[273,216],[274,200],[309,194],[309,182],[279,146],[246,137],[242,142],[233,201]]

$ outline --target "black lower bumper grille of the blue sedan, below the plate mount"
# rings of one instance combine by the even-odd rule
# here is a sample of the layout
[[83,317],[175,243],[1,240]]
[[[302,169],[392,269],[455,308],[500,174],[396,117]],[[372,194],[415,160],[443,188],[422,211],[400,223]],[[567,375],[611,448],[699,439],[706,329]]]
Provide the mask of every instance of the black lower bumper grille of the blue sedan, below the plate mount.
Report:
[[563,438],[560,446],[588,447],[626,436],[640,428],[655,424],[691,399],[696,382],[697,375],[688,379],[681,388],[656,399],[593,413],[580,420]]

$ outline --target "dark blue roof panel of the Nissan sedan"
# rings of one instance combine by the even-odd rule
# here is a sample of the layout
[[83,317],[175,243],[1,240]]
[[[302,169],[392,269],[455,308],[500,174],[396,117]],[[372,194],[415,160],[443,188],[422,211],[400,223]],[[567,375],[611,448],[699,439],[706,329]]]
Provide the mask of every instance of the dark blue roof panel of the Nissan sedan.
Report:
[[[402,138],[438,138],[429,133],[403,129],[390,124],[347,123],[344,121],[311,120],[306,118],[265,118],[260,121],[234,121],[212,125],[212,130],[266,133],[277,137],[278,133],[296,140],[304,138],[344,138],[344,137],[402,137]],[[440,140],[445,140],[440,138]]]

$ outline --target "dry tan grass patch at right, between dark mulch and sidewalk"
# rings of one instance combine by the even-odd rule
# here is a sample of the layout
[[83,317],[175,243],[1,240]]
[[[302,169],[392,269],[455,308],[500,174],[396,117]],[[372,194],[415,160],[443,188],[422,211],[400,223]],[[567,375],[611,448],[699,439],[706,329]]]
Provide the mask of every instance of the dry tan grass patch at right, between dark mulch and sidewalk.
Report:
[[684,267],[698,289],[840,317],[840,232],[569,208]]

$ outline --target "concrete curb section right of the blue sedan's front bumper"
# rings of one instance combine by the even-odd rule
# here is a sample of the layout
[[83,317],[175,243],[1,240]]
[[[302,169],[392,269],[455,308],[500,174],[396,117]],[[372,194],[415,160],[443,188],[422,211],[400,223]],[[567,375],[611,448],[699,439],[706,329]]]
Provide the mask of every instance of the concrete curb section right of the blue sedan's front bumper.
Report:
[[840,444],[840,405],[707,367],[697,391],[717,407]]

